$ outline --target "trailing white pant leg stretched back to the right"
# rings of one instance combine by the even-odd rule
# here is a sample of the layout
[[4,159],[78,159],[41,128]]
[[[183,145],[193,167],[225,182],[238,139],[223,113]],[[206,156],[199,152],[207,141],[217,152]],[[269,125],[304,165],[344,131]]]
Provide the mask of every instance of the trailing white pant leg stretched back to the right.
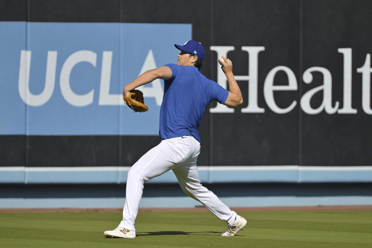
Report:
[[[192,138],[193,139],[193,138]],[[200,150],[200,144],[195,141],[195,150]],[[179,181],[182,190],[191,198],[201,202],[209,211],[219,219],[225,220],[228,226],[234,223],[236,213],[226,206],[218,197],[206,187],[202,186],[199,179],[199,172],[196,166],[198,152],[196,156],[190,157],[190,160],[173,168],[173,172]]]

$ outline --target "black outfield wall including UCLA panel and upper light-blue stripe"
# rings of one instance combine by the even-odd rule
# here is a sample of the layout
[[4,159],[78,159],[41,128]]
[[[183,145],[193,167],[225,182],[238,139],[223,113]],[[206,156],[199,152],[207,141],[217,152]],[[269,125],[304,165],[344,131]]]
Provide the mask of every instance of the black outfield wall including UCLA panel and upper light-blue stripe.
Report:
[[141,88],[147,113],[124,106],[122,88],[175,63],[173,44],[189,39],[224,87],[217,58],[232,60],[244,98],[207,107],[203,182],[371,183],[371,10],[362,0],[0,1],[1,187],[125,184],[160,142],[163,82]]

